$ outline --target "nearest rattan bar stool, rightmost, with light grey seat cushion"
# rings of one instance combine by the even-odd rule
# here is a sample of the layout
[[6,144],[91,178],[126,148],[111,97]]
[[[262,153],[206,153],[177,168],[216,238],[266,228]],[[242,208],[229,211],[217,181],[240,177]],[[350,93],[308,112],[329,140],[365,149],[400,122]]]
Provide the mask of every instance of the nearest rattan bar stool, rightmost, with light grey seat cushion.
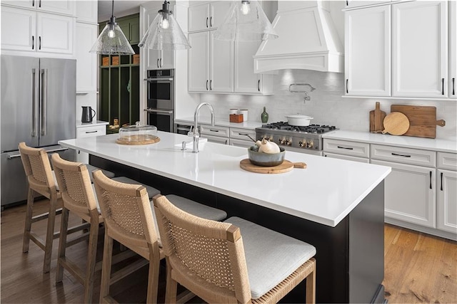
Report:
[[306,279],[315,303],[316,248],[249,221],[201,219],[154,197],[166,256],[165,303],[177,283],[208,303],[277,303]]

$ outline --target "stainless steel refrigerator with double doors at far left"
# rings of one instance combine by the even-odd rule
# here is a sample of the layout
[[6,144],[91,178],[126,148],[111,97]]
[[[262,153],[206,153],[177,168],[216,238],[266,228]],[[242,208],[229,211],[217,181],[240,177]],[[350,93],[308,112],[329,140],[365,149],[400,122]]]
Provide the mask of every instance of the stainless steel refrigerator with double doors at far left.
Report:
[[1,206],[24,201],[19,142],[74,160],[57,145],[76,137],[76,61],[1,56]]

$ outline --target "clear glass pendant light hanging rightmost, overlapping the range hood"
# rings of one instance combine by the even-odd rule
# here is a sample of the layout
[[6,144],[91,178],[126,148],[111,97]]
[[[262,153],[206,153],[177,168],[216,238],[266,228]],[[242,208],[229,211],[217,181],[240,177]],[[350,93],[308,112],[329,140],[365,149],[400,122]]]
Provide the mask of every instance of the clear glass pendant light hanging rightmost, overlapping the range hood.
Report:
[[270,21],[256,0],[235,1],[214,38],[227,41],[263,41],[276,39]]

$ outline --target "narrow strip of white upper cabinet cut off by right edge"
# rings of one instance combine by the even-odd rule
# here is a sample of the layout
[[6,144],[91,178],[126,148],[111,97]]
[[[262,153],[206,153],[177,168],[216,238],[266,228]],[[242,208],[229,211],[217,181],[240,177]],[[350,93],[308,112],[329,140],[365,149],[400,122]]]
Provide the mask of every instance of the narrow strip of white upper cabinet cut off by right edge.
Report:
[[457,2],[449,1],[449,97],[456,98],[457,90]]

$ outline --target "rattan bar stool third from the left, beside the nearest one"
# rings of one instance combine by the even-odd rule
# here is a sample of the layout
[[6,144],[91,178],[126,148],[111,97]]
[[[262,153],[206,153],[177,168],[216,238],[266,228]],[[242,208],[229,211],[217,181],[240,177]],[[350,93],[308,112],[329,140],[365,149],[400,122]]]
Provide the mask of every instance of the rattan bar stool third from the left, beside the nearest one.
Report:
[[[94,185],[99,200],[101,214],[104,216],[105,239],[101,268],[100,303],[116,303],[110,294],[110,285],[144,266],[144,263],[132,263],[111,276],[111,256],[113,240],[130,248],[149,261],[149,279],[146,303],[157,302],[159,285],[159,261],[164,258],[152,202],[146,188],[139,184],[125,184],[109,179],[103,172],[96,171]],[[225,218],[226,213],[219,209],[198,204],[194,201],[175,197],[176,204],[191,209],[197,214],[210,214],[211,217]],[[190,205],[190,206],[189,206]],[[214,211],[211,213],[211,211]],[[119,274],[120,273],[120,274]]]

